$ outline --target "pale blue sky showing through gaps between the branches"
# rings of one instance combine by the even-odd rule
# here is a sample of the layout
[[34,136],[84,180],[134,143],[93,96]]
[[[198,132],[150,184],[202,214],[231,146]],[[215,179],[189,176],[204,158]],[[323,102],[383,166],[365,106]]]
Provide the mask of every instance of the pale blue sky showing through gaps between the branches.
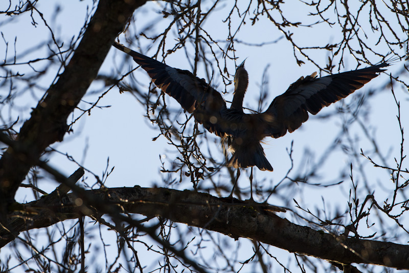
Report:
[[[0,9],[4,10],[5,8],[2,7],[2,5],[4,4],[0,4]],[[290,14],[289,16],[292,16],[292,18],[289,19],[294,21],[303,20],[303,24],[314,23],[315,17],[306,17],[305,14],[307,11],[304,9],[298,9],[298,7],[300,7],[299,5],[300,3],[297,3],[295,8],[290,5],[283,5],[283,13]],[[57,6],[60,7],[60,14],[53,19],[53,13]],[[222,6],[223,8],[216,10],[215,14],[207,19],[205,27],[211,35],[221,40],[220,45],[224,48],[225,43],[222,43],[222,41],[226,37],[227,30],[225,27],[226,23],[223,23],[222,19],[226,17],[226,9],[229,9],[229,4],[228,2],[225,2]],[[89,7],[88,11],[86,7]],[[48,0],[38,3],[37,8],[43,13],[47,22],[52,22],[50,27],[53,29],[57,38],[65,43],[67,43],[67,41],[73,36],[78,36],[79,30],[84,24],[87,12],[93,13],[92,2],[90,1],[77,1],[67,4],[55,3]],[[203,10],[206,10],[206,8],[206,4],[203,4]],[[287,12],[286,9],[293,10]],[[127,35],[131,37],[134,34],[139,34],[142,30],[146,30],[146,33],[149,33],[150,30],[155,31],[166,28],[171,17],[167,20],[162,20],[160,23],[155,23],[152,29],[148,28],[157,18],[162,17],[157,13],[157,11],[160,10],[160,4],[157,2],[149,2],[140,8],[135,15],[135,24],[130,26]],[[275,11],[272,11],[272,14],[274,13]],[[31,24],[32,19],[28,13],[26,15],[18,16],[18,18],[3,17],[0,21],[2,22],[2,25],[0,25],[0,31],[2,32],[3,39],[9,42],[9,46],[13,45],[14,39],[17,37],[15,43],[17,52],[25,52],[29,50],[30,47],[38,45],[42,43],[43,40],[50,37],[50,31],[47,26],[41,22],[39,16],[36,14],[33,16],[39,23],[36,26]],[[307,22],[304,21],[305,18]],[[393,20],[392,17],[390,19]],[[233,25],[234,24],[237,25],[238,23],[233,22]],[[300,43],[303,41],[303,43],[305,43],[304,45],[308,45],[308,41],[311,41],[311,45],[316,42],[325,45],[326,43],[335,41],[339,38],[339,28],[335,26],[331,29],[323,25],[315,25],[313,28],[299,27],[293,31],[294,36],[297,35],[297,39]],[[174,31],[171,33],[174,34]],[[374,39],[374,35],[371,35],[371,33],[368,33],[368,37],[369,40]],[[305,62],[305,65],[300,67],[296,64],[293,57],[293,49],[289,46],[288,41],[283,38],[281,32],[272,27],[265,17],[260,17],[260,20],[257,21],[254,26],[250,23],[244,25],[240,29],[236,38],[239,40],[251,41],[253,44],[277,41],[277,43],[271,43],[263,47],[252,47],[244,44],[241,45],[239,43],[235,45],[235,54],[238,59],[236,64],[234,61],[231,61],[227,66],[229,72],[232,73],[230,79],[233,80],[235,65],[240,64],[246,59],[245,68],[249,73],[249,88],[244,99],[244,106],[246,107],[252,109],[257,108],[257,98],[260,92],[259,86],[262,80],[263,70],[266,66],[269,66],[267,70],[269,78],[269,101],[275,96],[283,93],[288,86],[300,76],[306,76],[317,71],[317,68],[311,64],[311,62],[308,62],[308,60],[301,57],[298,53],[299,58]],[[167,38],[166,48],[172,47],[172,39],[172,37]],[[120,35],[120,41],[125,44],[125,46],[128,46],[133,50],[141,51],[147,56],[152,56],[155,53],[155,47],[157,48],[157,43],[152,44],[149,40],[141,40],[142,44],[140,47],[137,47],[137,45],[127,45],[124,35]],[[4,49],[5,43],[0,43],[0,52],[4,52]],[[380,44],[379,51],[384,53],[387,52],[388,49],[382,48],[382,44]],[[38,52],[35,54],[38,54]],[[46,48],[43,49],[43,54],[43,56],[47,55]],[[10,61],[11,56],[12,54],[9,52],[7,58],[8,61]],[[311,56],[314,56],[314,60],[318,61],[321,66],[325,66],[328,55],[322,55],[321,51],[311,51]],[[33,54],[28,53],[22,58],[22,60],[33,58]],[[123,62],[123,58],[124,56],[122,52],[112,48],[101,67],[100,74],[112,75],[118,73],[119,78],[126,72],[137,67],[131,58],[127,58],[125,63]],[[2,59],[4,59],[4,56],[2,56]],[[162,61],[161,57],[158,59]],[[356,62],[351,56],[346,56],[345,60],[345,67],[340,68],[340,72],[356,68]],[[375,56],[370,56],[370,60],[374,64],[380,61],[380,59]],[[180,69],[192,69],[192,61],[186,59],[186,54],[183,50],[171,54],[166,58],[166,64]],[[41,63],[33,64],[34,68],[41,68],[41,66]],[[402,61],[397,62],[388,71],[393,73],[394,71],[401,69],[402,66]],[[15,69],[25,73],[30,73],[32,70],[32,68],[28,66],[17,66]],[[30,111],[28,111],[30,107],[35,107],[36,101],[38,101],[44,91],[47,90],[55,79],[55,70],[48,73],[49,77],[43,78],[42,81],[37,82],[37,87],[30,89],[29,92],[25,92],[24,95],[16,100],[17,111],[9,112],[9,109],[3,107],[1,110],[2,116],[7,116],[7,113],[11,113],[10,117],[12,118],[19,116],[20,124],[22,121],[26,120],[30,115]],[[133,72],[133,75],[138,79],[138,87],[141,90],[146,90],[150,82],[145,71],[138,69]],[[202,67],[199,67],[198,76],[206,76]],[[387,78],[387,75],[382,74],[364,88],[358,90],[355,94],[359,95],[368,92],[372,86],[375,87],[379,84],[383,84]],[[218,86],[219,91],[223,91],[224,85],[220,80],[220,77],[215,76],[214,79],[215,80],[212,83]],[[130,80],[132,80],[130,77],[125,79],[125,81]],[[96,98],[101,95],[102,89],[104,89],[104,87],[101,82],[93,83],[83,100],[94,102]],[[225,95],[224,98],[228,101],[232,98],[232,89],[232,85],[226,88],[226,91],[228,91],[229,94]],[[407,103],[407,90],[397,87],[395,93],[402,104]],[[178,103],[174,99],[170,97],[167,97],[166,99],[170,109],[179,108]],[[266,139],[263,148],[267,159],[274,167],[274,172],[269,173],[257,170],[255,171],[255,176],[259,179],[265,179],[265,181],[269,181],[272,184],[278,183],[283,177],[285,177],[286,172],[291,165],[287,149],[290,148],[292,141],[295,169],[302,168],[303,164],[306,163],[302,162],[302,160],[304,160],[303,155],[307,148],[313,153],[315,158],[320,158],[326,153],[326,149],[328,149],[328,146],[331,145],[334,137],[340,131],[340,125],[342,125],[342,120],[345,116],[339,115],[337,118],[325,121],[319,117],[336,111],[337,107],[341,104],[346,104],[353,99],[356,99],[356,97],[351,96],[351,98],[347,98],[344,102],[335,103],[335,105],[320,112],[317,117],[310,115],[310,119],[292,134],[287,133],[284,137],[279,139]],[[400,143],[399,132],[395,117],[397,115],[395,101],[391,92],[385,90],[376,95],[376,99],[371,100],[371,103],[370,107],[372,111],[365,122],[367,122],[367,124],[376,125],[376,128],[374,127],[375,125],[371,125],[373,130],[371,129],[370,132],[371,134],[376,135],[380,143],[383,144],[380,149],[382,149],[384,154],[390,155],[388,157],[388,162],[391,165],[394,165],[394,157],[399,156],[400,149],[400,146],[398,145],[398,143]],[[268,104],[269,102],[267,105]],[[85,108],[86,105],[87,104],[83,102],[80,107]],[[62,143],[55,143],[52,147],[60,151],[62,154],[69,154],[83,164],[88,170],[97,174],[100,178],[103,177],[103,172],[105,170],[111,170],[112,167],[115,166],[115,169],[113,169],[112,173],[110,173],[105,181],[105,186],[107,187],[132,187],[134,185],[140,185],[142,187],[150,187],[153,185],[163,186],[161,181],[164,174],[160,172],[160,156],[164,159],[164,155],[167,155],[164,162],[166,166],[169,166],[169,160],[176,157],[175,149],[167,143],[167,140],[164,137],[159,137],[156,141],[152,141],[152,138],[156,137],[159,132],[154,125],[150,124],[147,119],[144,118],[144,115],[146,115],[146,109],[142,107],[131,94],[128,92],[121,94],[116,87],[104,95],[98,105],[102,108],[94,108],[89,116],[80,119],[74,125],[74,134],[66,135]],[[78,115],[78,113],[79,112],[77,111],[75,115]],[[409,108],[401,107],[401,116],[408,117]],[[12,118],[10,118],[10,120]],[[402,123],[403,126],[409,124],[408,120],[405,118],[402,119]],[[371,143],[369,143],[369,140],[365,136],[362,136],[359,128],[354,125],[350,129],[352,130],[352,136],[360,139],[359,146],[356,147],[358,153],[361,148],[364,151],[369,150],[371,148]],[[204,129],[201,127],[200,130]],[[212,151],[214,151],[214,154],[218,154],[221,158],[221,147],[218,143],[217,137],[213,135],[209,135],[209,137],[212,138],[211,142],[214,143],[211,144]],[[333,153],[331,155],[331,160],[327,163],[328,166],[324,168],[325,171],[320,173],[323,179],[320,179],[319,181],[321,183],[333,183],[338,177],[337,172],[339,172],[339,166],[349,165],[347,160],[348,158],[345,157],[342,151]],[[109,163],[108,167],[107,163]],[[78,167],[77,164],[67,160],[64,155],[53,155],[50,158],[50,164],[67,176],[72,174]],[[367,162],[365,163],[365,166],[370,166],[370,164]],[[86,173],[86,176],[92,177],[92,174]],[[393,187],[393,185],[390,184],[383,184],[382,186],[384,188],[379,187],[379,184],[384,182],[384,177],[385,172],[376,169],[371,173],[371,177],[367,178],[372,181],[372,185],[377,188],[376,194],[380,197],[382,194],[387,193],[387,189]],[[92,179],[90,180],[92,181]],[[57,185],[55,182],[43,181],[42,183],[43,189],[48,192],[51,192]],[[192,189],[191,186],[192,185],[189,184],[189,182],[181,184],[176,183],[173,185],[173,187],[178,189],[188,188],[190,190]],[[248,177],[241,177],[239,186],[248,187]],[[349,192],[347,190],[349,187],[350,186],[341,188],[322,188],[300,185],[295,188],[293,198],[306,207],[325,207],[329,211],[331,211],[331,209],[334,211],[336,207],[339,206],[339,202],[341,202],[341,206],[345,209],[347,206],[345,200],[348,199]],[[224,193],[224,195],[227,196],[228,193]],[[333,203],[323,204],[322,196],[333,196],[334,198],[331,198]],[[32,198],[33,196],[31,192],[25,189],[19,190],[16,196],[17,201],[20,202],[30,201]],[[336,201],[338,198],[339,201]],[[271,197],[269,202],[276,205],[284,205],[283,201],[277,196]],[[295,204],[293,203],[293,209],[294,206]]]

